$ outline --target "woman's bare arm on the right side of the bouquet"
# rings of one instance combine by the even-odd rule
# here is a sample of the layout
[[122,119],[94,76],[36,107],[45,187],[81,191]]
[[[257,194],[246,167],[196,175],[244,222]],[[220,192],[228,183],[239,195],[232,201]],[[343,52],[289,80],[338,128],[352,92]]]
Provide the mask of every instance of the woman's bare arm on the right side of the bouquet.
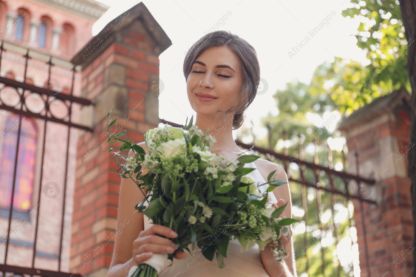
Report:
[[[266,160],[260,160],[265,168],[266,178],[268,174],[272,171],[275,171],[276,179],[282,179],[287,182],[287,184],[284,184],[282,186],[279,186],[275,188],[272,192],[275,195],[277,201],[279,199],[283,199],[285,203],[287,203],[285,210],[282,212],[287,218],[292,217],[292,198],[290,196],[290,190],[289,190],[289,181],[286,175],[285,170],[282,169],[279,165],[269,162]],[[263,162],[264,161],[264,162]],[[263,177],[264,178],[264,177]],[[266,179],[265,179],[266,180]],[[289,254],[289,257],[282,263],[282,265],[278,265],[272,257],[270,257],[269,261],[262,261],[263,265],[265,265],[265,269],[267,272],[272,273],[270,276],[280,276],[280,277],[297,277],[297,270],[296,270],[296,262],[295,262],[295,255],[294,255],[294,249],[293,249],[293,236],[290,236],[289,242],[287,243],[286,251]],[[278,272],[278,273],[277,273]],[[282,273],[285,273],[285,275],[281,275]],[[277,274],[277,275],[276,275]]]

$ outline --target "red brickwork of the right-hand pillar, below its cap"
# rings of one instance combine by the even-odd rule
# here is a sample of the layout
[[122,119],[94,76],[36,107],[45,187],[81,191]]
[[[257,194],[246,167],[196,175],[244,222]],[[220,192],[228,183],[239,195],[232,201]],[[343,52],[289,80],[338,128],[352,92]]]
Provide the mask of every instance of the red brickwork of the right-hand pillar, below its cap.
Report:
[[[359,200],[353,200],[361,277],[370,276],[367,266],[373,277],[411,276],[413,270],[411,182],[407,174],[402,176],[403,171],[400,169],[405,169],[407,172],[407,150],[416,143],[416,138],[412,140],[413,142],[409,142],[410,120],[407,112],[399,111],[396,118],[391,115],[385,118],[386,120],[378,122],[374,120],[374,124],[369,123],[369,128],[363,128],[362,132],[356,132],[354,136],[349,137],[347,132],[348,151],[350,153],[358,151],[359,174],[367,173],[360,164],[371,161],[375,168],[379,167],[374,171],[376,174],[373,178],[376,184],[373,185],[372,191],[372,193],[379,191],[375,199],[378,204],[363,202],[361,206]],[[381,143],[381,140],[388,136],[392,138],[390,146]],[[383,147],[391,147],[391,155],[383,156],[381,154]],[[403,157],[396,152],[396,149],[402,151]],[[382,163],[374,162],[384,159],[391,159],[393,161],[391,164],[396,167],[385,168]],[[350,158],[349,162],[355,163],[355,159]],[[400,165],[397,165],[398,162]],[[369,196],[363,198],[367,197]],[[366,229],[365,235],[363,223]],[[365,254],[364,238],[368,249],[368,260]]]

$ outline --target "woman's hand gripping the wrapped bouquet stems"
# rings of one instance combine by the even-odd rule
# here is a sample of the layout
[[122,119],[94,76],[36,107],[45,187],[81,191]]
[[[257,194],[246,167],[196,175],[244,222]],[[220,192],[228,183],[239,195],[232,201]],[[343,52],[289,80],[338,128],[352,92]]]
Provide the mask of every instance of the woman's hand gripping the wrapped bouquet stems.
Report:
[[[166,238],[162,238],[164,235]],[[136,265],[149,260],[153,253],[173,253],[177,245],[168,238],[178,236],[171,228],[160,224],[152,224],[149,228],[141,231],[133,242],[133,260]],[[175,258],[182,260],[188,255],[182,250],[175,251]]]

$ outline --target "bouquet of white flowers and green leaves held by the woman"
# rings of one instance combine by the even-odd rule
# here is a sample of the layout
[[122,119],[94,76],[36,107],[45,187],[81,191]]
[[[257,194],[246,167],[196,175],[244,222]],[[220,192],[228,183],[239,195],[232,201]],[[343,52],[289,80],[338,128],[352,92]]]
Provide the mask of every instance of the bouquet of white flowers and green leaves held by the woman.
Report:
[[[260,194],[249,174],[255,169],[245,167],[260,156],[242,155],[233,159],[211,153],[215,137],[207,135],[208,129],[203,132],[193,125],[193,116],[189,123],[186,119],[183,128],[166,124],[147,130],[144,138],[149,154],[146,154],[139,145],[133,145],[132,140],[121,138],[126,131],[110,132],[111,125],[117,120],[117,117],[109,119],[112,110],[107,114],[107,142],[109,152],[117,159],[117,172],[122,171],[119,176],[134,181],[143,193],[144,199],[135,206],[136,210],[154,224],[167,226],[178,233],[176,238],[170,238],[177,243],[177,250],[191,252],[188,246],[195,249],[197,244],[208,260],[212,261],[216,256],[220,268],[225,267],[223,258],[228,257],[230,239],[238,239],[241,252],[255,243],[264,250],[267,243],[273,242],[271,250],[276,262],[287,257],[279,246],[279,238],[297,220],[279,217],[286,204],[277,209],[270,206],[268,192],[286,184],[283,180],[272,179],[275,171],[269,174],[265,183],[270,186]],[[117,141],[123,144],[119,151],[113,152],[111,144]],[[126,150],[131,150],[134,155],[122,154]],[[148,170],[147,174],[142,174],[144,168]],[[146,195],[144,191],[149,193]],[[221,232],[224,225],[228,226],[225,233]],[[213,243],[203,243],[214,235]],[[171,265],[167,260],[173,261],[173,257],[173,253],[156,253],[132,267],[128,276],[156,277]]]

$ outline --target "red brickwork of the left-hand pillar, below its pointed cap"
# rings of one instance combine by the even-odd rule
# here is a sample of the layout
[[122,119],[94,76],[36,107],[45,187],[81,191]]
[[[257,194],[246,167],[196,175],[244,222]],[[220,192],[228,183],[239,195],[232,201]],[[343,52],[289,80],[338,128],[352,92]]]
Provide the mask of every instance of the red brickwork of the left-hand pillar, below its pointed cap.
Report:
[[[87,98],[99,99],[103,107],[99,114],[97,109],[94,112],[94,132],[85,133],[78,142],[70,268],[82,275],[107,269],[114,246],[121,178],[106,142],[107,110],[114,105],[112,114],[119,115],[119,119],[112,127],[127,130],[128,140],[141,142],[143,132],[157,127],[149,124],[145,114],[146,109],[158,109],[146,97],[149,79],[158,77],[159,59],[152,54],[146,34],[126,34],[122,42],[111,44],[82,72],[82,89]],[[111,94],[106,102],[103,97],[111,87],[126,92],[127,105],[114,103],[117,99]],[[113,145],[117,149],[117,144]]]

